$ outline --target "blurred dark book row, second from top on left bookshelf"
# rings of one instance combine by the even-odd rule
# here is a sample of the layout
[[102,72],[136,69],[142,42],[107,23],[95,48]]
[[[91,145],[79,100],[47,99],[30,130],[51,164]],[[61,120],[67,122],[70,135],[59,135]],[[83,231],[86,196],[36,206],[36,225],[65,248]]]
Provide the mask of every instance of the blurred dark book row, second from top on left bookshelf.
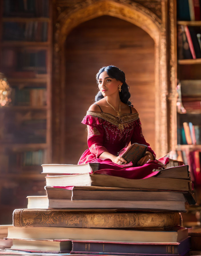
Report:
[[3,40],[46,42],[47,35],[47,22],[29,21],[3,23]]

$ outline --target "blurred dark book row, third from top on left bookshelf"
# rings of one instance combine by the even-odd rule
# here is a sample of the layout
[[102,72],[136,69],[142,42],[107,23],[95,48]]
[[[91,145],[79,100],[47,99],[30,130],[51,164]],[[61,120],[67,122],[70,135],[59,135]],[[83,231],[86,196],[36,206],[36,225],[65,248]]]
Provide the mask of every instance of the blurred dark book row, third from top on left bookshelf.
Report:
[[2,68],[7,70],[11,76],[14,76],[12,71],[47,73],[46,50],[6,48],[2,51],[2,60]]

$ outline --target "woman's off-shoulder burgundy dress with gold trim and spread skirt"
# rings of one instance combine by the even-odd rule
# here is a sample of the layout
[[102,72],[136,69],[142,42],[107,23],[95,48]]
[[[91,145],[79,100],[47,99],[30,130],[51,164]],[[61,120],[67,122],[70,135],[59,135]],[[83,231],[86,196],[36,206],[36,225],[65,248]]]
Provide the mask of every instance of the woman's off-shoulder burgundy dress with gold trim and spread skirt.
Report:
[[135,142],[147,145],[147,151],[156,157],[154,151],[144,139],[139,115],[138,113],[132,114],[131,107],[130,113],[122,114],[120,118],[103,112],[101,108],[100,110],[101,112],[87,111],[87,115],[82,121],[88,128],[87,143],[89,148],[81,155],[78,164],[100,163],[99,170],[95,173],[128,179],[144,179],[156,175],[158,172],[153,172],[153,170],[162,167],[157,160],[149,161],[142,166],[132,167],[132,163],[118,165],[110,159],[99,158],[104,151],[117,155],[130,143]]

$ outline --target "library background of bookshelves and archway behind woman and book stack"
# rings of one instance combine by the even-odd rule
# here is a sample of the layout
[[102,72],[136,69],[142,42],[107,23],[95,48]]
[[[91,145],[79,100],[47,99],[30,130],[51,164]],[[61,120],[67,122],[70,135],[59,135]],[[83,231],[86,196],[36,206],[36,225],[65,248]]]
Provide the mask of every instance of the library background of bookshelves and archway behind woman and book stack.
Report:
[[88,148],[81,121],[95,102],[95,75],[114,65],[156,158],[169,153],[189,166],[196,205],[186,205],[183,226],[199,226],[201,2],[0,4],[0,225],[27,208],[27,196],[46,195],[42,164],[77,165]]

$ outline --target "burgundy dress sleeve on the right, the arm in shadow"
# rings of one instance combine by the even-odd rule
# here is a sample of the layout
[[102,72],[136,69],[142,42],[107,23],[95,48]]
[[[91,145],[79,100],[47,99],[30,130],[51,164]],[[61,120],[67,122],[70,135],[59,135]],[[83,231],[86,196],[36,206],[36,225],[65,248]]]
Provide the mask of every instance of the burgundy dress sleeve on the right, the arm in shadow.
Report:
[[140,119],[135,121],[135,125],[133,128],[133,135],[131,137],[130,143],[139,143],[139,144],[144,144],[147,145],[147,151],[151,152],[152,155],[156,158],[156,154],[154,153],[154,151],[151,149],[149,143],[146,142],[146,140],[144,139],[144,136],[142,134],[142,127],[141,127],[141,122]]

